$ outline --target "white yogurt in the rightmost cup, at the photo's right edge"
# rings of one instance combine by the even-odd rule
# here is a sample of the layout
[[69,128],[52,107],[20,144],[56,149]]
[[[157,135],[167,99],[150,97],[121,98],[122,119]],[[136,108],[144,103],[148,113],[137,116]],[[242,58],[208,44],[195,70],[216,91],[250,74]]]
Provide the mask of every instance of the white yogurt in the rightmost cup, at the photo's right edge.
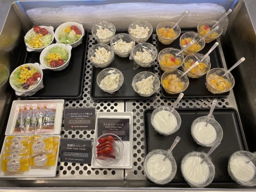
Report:
[[237,180],[247,182],[254,178],[256,172],[255,165],[248,161],[249,159],[240,155],[231,157],[229,167]]

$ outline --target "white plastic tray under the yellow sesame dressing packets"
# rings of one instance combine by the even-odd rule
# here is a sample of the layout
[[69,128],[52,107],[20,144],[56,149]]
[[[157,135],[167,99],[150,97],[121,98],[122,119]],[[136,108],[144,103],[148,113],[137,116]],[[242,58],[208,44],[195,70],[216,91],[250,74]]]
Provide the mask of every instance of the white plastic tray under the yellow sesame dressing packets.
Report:
[[[52,136],[52,135],[49,135]],[[55,137],[59,137],[60,135],[56,135]],[[55,157],[55,166],[50,166],[50,169],[30,169],[28,171],[24,171],[23,175],[4,175],[4,172],[2,171],[2,154],[4,153],[4,149],[5,149],[5,140],[6,140],[7,136],[5,136],[4,138],[4,144],[1,150],[1,158],[0,158],[0,178],[1,177],[5,177],[5,178],[17,178],[17,177],[55,177],[56,176],[56,172],[57,172],[57,164],[58,164],[58,159],[59,159],[59,150],[60,150],[60,141],[59,141],[59,146],[58,146],[58,150],[56,153],[56,157]]]

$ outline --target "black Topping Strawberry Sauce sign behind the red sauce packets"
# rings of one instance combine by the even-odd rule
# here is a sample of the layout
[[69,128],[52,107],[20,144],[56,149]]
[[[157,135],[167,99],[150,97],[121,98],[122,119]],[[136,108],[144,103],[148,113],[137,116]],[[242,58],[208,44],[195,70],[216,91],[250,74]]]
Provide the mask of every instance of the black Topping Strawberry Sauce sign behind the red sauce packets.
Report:
[[98,118],[98,137],[106,133],[112,133],[123,141],[130,140],[130,119]]

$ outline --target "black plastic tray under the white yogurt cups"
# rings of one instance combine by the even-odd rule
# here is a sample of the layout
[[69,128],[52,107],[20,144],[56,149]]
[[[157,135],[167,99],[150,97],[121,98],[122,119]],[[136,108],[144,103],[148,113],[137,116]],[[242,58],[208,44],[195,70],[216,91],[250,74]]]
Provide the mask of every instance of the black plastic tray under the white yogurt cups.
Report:
[[[210,147],[203,147],[196,144],[191,135],[192,122],[197,117],[208,115],[210,109],[177,109],[181,116],[180,129],[167,137],[159,133],[153,133],[154,128],[150,122],[150,116],[153,110],[154,109],[146,109],[144,112],[146,154],[154,149],[169,149],[174,139],[180,136],[180,142],[173,150],[173,156],[177,163],[177,174],[174,179],[165,186],[175,186],[179,184],[179,186],[182,187],[189,187],[182,177],[180,163],[182,158],[189,152],[204,151],[207,153],[210,150]],[[244,132],[237,111],[234,108],[215,108],[213,115],[223,129],[223,139],[220,146],[211,155],[212,162],[215,165],[215,177],[208,188],[214,188],[216,184],[221,184],[220,186],[223,184],[235,184],[235,181],[228,175],[228,159],[235,151],[247,150]]]

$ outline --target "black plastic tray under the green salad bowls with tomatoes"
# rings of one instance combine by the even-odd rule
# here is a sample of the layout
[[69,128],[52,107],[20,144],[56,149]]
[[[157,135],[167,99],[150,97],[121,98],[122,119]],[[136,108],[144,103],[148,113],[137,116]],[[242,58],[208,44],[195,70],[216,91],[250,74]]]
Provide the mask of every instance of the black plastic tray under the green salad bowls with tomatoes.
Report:
[[[82,44],[71,50],[68,67],[61,71],[44,69],[44,88],[32,96],[33,99],[75,99],[82,95],[85,54],[87,49],[88,33],[85,31]],[[40,53],[27,52],[25,63],[40,63]],[[24,98],[24,97],[21,97]]]

